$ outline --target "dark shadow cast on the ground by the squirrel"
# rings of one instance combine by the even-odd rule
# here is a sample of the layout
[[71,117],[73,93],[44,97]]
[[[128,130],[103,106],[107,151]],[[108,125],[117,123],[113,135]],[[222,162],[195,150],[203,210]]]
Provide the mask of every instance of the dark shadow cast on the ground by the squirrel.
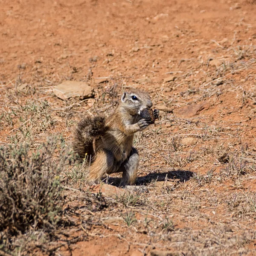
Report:
[[[165,180],[177,180],[178,183],[186,182],[193,177],[194,172],[175,170],[161,173],[149,173],[148,175],[137,177],[135,185],[148,185],[152,181],[165,181]],[[113,186],[119,186],[121,178],[109,177],[105,179],[105,182]]]

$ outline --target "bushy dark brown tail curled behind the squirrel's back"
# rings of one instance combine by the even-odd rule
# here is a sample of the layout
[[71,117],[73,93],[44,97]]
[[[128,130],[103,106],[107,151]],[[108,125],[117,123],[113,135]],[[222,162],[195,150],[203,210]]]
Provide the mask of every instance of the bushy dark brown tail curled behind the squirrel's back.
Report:
[[93,140],[105,134],[105,116],[87,116],[76,126],[73,137],[73,149],[81,159],[87,155],[94,156]]

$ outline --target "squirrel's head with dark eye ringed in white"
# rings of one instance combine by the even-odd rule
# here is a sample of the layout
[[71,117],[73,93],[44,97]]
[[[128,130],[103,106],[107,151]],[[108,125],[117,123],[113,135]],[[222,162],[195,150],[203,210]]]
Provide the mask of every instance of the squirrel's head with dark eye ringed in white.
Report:
[[144,108],[151,108],[153,103],[147,92],[135,88],[124,90],[121,105],[131,115],[140,115]]

